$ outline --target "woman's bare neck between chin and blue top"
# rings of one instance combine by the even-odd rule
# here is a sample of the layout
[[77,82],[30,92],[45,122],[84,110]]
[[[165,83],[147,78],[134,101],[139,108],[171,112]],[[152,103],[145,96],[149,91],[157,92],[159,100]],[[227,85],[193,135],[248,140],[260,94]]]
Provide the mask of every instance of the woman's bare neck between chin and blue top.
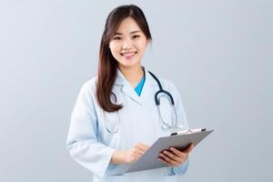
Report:
[[126,80],[133,86],[136,85],[144,76],[144,70],[141,65],[132,67],[118,66],[118,69],[123,76],[126,77]]

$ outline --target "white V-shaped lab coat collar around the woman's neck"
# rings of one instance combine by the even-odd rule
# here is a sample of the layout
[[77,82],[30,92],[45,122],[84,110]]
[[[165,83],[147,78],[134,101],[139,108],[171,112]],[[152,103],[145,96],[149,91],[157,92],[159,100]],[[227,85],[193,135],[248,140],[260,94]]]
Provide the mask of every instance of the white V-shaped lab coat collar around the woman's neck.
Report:
[[145,69],[145,76],[146,80],[140,96],[136,94],[135,88],[130,85],[119,69],[117,69],[115,85],[122,86],[122,92],[134,99],[141,106],[144,106],[144,101],[154,92],[154,86],[157,86],[156,80],[147,72],[147,69]]

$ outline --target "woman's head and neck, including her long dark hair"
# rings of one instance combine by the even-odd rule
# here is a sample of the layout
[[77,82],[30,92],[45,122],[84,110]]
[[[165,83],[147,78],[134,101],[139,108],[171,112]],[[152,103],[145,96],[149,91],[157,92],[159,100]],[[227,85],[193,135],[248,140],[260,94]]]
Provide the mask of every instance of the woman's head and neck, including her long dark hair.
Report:
[[[146,17],[136,5],[116,7],[108,15],[100,45],[96,86],[98,103],[106,111],[113,112],[122,107],[110,102],[116,67],[122,69],[122,73],[135,86],[143,76],[140,61],[151,40]],[[129,74],[132,71],[135,73]],[[136,78],[131,77],[133,75]]]

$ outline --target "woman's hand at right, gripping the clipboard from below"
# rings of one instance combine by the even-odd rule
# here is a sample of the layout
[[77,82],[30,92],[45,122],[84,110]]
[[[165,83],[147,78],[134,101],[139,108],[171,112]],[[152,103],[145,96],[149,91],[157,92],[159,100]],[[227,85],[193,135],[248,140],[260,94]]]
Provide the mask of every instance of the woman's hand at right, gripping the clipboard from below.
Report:
[[194,145],[191,144],[183,151],[175,147],[170,147],[169,150],[160,152],[158,159],[169,167],[178,167],[187,160],[189,152],[193,149]]

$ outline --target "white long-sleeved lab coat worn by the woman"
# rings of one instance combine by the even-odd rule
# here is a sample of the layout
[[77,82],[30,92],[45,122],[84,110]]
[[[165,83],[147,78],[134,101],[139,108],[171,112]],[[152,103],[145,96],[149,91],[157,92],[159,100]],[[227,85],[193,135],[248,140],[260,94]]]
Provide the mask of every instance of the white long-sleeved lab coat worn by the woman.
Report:
[[[159,79],[163,88],[173,97],[177,109],[177,120],[188,129],[187,118],[177,88],[167,80]],[[126,81],[117,69],[113,92],[117,104],[124,107],[117,113],[105,113],[96,101],[96,77],[82,86],[76,99],[66,147],[70,156],[81,166],[92,172],[94,182],[171,182],[187,171],[188,160],[180,167],[163,167],[153,170],[115,175],[122,165],[109,164],[115,150],[128,150],[136,143],[152,145],[159,136],[168,136],[173,130],[164,130],[159,121],[155,94],[156,80],[146,71],[146,82],[141,95]],[[170,120],[171,109],[168,100],[160,100],[162,115]],[[117,118],[120,125],[116,134],[106,130],[106,122],[111,131],[116,130]],[[168,117],[168,118],[167,118]],[[105,122],[106,119],[106,122]],[[118,174],[118,173],[117,173]]]

